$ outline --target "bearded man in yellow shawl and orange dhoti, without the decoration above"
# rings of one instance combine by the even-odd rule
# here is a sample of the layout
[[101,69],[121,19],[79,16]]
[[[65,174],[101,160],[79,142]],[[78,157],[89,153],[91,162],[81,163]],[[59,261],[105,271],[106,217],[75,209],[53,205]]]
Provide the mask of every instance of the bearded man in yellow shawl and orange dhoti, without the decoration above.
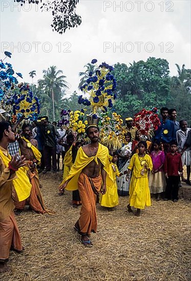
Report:
[[79,190],[82,207],[74,228],[81,235],[81,243],[92,247],[89,237],[97,230],[96,195],[105,194],[106,185],[113,185],[113,177],[108,148],[99,144],[99,128],[89,125],[86,133],[91,143],[79,148],[74,165],[59,190]]

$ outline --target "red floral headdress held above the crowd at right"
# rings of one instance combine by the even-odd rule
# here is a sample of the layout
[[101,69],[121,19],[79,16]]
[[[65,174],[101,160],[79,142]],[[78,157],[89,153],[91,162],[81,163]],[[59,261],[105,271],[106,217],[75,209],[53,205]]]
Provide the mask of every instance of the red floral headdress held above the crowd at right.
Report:
[[135,114],[134,124],[143,136],[152,137],[160,125],[157,108],[154,107],[152,110],[143,108],[140,112]]

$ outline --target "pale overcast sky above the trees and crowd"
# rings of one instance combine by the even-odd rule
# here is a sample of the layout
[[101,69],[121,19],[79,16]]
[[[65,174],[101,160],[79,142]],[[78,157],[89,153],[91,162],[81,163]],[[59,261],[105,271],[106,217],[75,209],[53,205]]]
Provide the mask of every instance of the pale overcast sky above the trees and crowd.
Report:
[[177,74],[175,63],[190,68],[188,0],[80,0],[77,13],[82,24],[63,35],[52,32],[52,15],[41,12],[40,6],[21,8],[11,0],[0,2],[1,58],[3,51],[12,52],[9,62],[26,82],[31,82],[30,71],[36,70],[36,83],[43,69],[56,65],[67,76],[67,95],[71,95],[78,88],[78,73],[93,58],[109,64],[165,58],[171,75]]

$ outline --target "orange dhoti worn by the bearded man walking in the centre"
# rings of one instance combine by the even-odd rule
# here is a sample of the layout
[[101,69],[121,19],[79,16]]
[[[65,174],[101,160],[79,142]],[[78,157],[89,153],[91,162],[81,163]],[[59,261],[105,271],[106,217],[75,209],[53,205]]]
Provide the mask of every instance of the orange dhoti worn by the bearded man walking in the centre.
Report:
[[[100,192],[102,177],[91,178],[92,184],[96,192]],[[96,214],[96,194],[93,192],[92,184],[89,177],[83,173],[78,178],[78,190],[81,198],[81,211],[79,223],[79,234],[90,235],[91,232],[97,230],[97,214]]]

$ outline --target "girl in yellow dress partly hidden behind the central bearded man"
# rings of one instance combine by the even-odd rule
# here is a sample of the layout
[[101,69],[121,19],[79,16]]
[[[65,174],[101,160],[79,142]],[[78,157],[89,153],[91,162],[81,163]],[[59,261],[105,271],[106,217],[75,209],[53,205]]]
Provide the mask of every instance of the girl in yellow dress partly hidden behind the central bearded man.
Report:
[[[101,206],[108,207],[109,210],[113,210],[113,207],[119,204],[116,177],[122,176],[123,173],[119,173],[119,170],[116,165],[118,160],[118,154],[114,152],[113,157],[112,156],[110,157],[111,157],[110,169],[112,171],[114,183],[112,186],[107,186],[107,191],[104,195],[101,194],[99,203]],[[126,173],[127,172],[125,171],[124,174]]]

